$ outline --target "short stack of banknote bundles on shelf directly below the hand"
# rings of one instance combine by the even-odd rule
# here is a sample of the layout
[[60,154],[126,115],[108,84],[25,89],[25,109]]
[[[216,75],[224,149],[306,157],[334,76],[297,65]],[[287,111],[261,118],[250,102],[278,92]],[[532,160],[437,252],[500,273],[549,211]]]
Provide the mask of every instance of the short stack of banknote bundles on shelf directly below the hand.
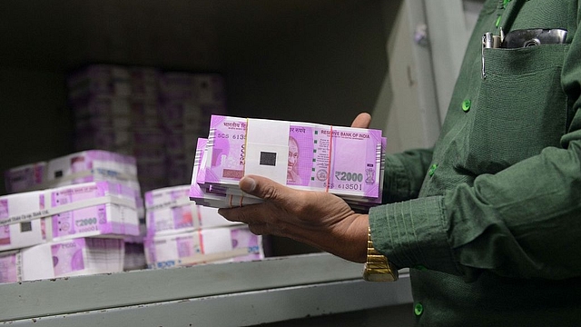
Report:
[[246,225],[227,221],[216,208],[193,203],[189,193],[190,185],[145,193],[143,245],[150,268],[264,258],[261,236],[252,234]]

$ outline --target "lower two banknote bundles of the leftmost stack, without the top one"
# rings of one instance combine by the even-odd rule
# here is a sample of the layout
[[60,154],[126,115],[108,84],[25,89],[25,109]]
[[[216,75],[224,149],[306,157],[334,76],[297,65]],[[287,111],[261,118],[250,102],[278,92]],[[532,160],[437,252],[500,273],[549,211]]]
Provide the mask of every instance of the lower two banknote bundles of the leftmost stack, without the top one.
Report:
[[133,189],[90,182],[0,196],[0,282],[122,272]]

